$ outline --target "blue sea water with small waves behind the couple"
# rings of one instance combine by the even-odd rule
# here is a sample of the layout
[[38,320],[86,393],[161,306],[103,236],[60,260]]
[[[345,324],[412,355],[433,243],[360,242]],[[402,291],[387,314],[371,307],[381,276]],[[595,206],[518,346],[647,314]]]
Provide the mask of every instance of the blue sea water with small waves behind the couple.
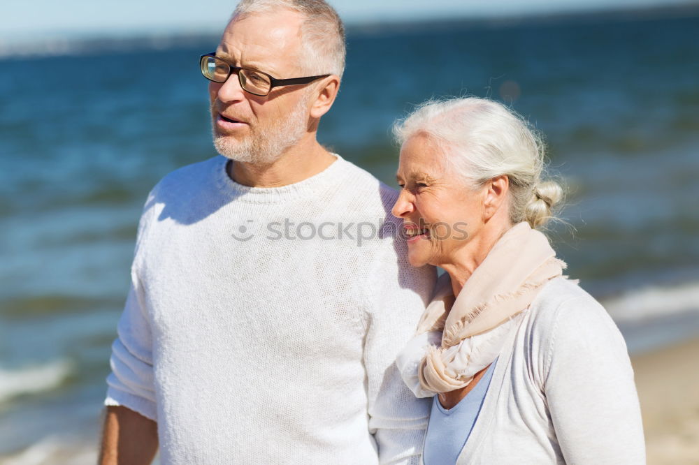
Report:
[[[395,185],[390,127],[416,104],[511,105],[570,189],[568,226],[551,232],[567,273],[646,350],[699,334],[698,30],[685,17],[355,32],[319,138]],[[215,155],[198,60],[217,37],[200,42],[0,59],[8,464],[94,463],[145,196]]]

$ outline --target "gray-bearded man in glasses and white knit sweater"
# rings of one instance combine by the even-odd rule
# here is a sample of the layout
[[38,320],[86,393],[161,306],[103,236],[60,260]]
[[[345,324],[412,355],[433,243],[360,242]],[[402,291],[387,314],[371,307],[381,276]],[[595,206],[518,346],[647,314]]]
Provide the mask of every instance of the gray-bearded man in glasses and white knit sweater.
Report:
[[394,360],[435,272],[395,191],[316,140],[344,62],[322,0],[243,0],[201,57],[220,155],[145,202],[102,464],[417,462],[428,405]]

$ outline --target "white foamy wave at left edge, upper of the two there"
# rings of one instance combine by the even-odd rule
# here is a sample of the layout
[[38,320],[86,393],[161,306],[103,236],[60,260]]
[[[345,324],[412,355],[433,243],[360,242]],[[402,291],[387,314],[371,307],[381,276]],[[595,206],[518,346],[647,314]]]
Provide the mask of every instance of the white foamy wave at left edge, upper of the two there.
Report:
[[0,404],[23,394],[57,388],[73,373],[69,360],[55,360],[19,369],[0,368]]

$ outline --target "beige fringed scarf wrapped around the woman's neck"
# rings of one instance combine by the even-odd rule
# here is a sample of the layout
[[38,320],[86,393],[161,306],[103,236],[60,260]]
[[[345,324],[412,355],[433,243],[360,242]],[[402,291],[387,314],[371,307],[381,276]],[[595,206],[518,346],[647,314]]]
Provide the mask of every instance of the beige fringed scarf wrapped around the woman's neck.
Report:
[[468,385],[495,360],[519,313],[565,267],[546,236],[522,222],[498,239],[456,300],[451,281],[440,279],[417,330],[442,331],[441,346],[429,346],[419,362],[421,388],[449,392]]

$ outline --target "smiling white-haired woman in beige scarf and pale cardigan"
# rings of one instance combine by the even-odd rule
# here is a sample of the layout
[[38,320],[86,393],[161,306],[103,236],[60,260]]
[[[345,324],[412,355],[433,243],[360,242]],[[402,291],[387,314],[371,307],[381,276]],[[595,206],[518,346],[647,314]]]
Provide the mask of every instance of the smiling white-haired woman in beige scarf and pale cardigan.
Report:
[[433,397],[424,464],[644,463],[624,339],[537,230],[563,192],[542,181],[535,132],[499,103],[459,98],[422,105],[395,133],[410,264],[446,271],[397,360]]

